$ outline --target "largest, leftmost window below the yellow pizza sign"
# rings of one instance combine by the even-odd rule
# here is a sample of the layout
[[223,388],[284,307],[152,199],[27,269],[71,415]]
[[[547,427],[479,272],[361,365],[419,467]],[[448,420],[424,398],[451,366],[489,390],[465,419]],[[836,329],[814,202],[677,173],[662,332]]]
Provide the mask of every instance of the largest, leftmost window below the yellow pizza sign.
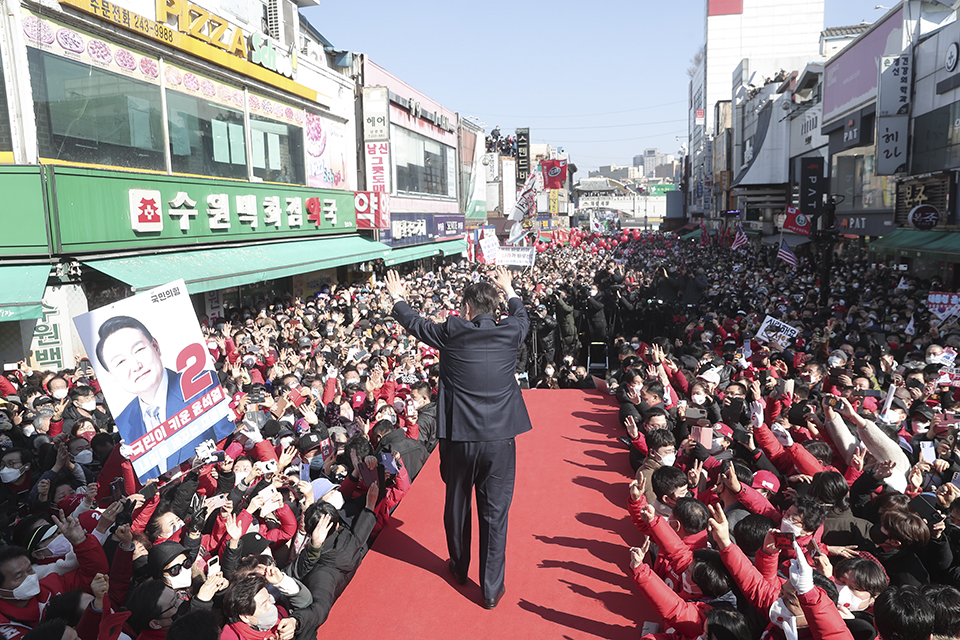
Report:
[[164,170],[160,87],[27,48],[40,157]]

